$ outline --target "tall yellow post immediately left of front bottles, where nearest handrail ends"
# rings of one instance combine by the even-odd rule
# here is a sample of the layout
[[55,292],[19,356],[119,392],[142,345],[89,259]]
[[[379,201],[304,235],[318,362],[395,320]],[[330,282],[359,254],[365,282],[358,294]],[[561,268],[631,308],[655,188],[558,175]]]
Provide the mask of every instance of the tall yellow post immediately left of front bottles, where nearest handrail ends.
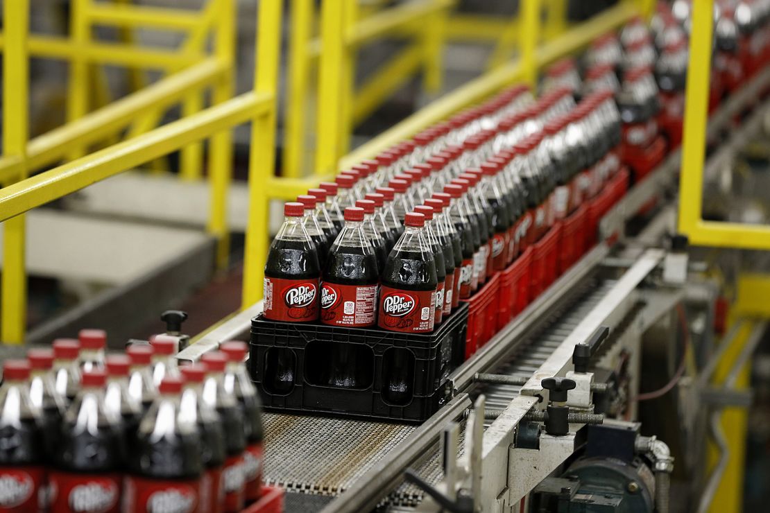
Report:
[[[326,2],[336,4],[337,2]],[[267,184],[273,178],[276,144],[276,89],[281,48],[281,5],[259,2],[256,30],[256,92],[273,96],[273,108],[253,120],[249,152],[249,218],[243,255],[243,308],[262,298],[269,237]]]

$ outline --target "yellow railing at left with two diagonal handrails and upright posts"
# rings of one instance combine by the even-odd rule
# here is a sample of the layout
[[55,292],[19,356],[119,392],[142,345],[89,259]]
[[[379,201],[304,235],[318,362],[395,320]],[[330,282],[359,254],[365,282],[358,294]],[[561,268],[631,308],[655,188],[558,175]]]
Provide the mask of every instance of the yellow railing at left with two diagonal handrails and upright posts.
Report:
[[[2,340],[23,341],[25,333],[26,277],[24,267],[24,213],[57,198],[75,192],[109,176],[168,155],[193,142],[212,138],[209,176],[212,201],[209,231],[226,242],[226,193],[231,175],[231,143],[229,131],[243,122],[252,123],[249,176],[249,232],[246,248],[254,250],[255,237],[265,237],[266,200],[259,195],[264,182],[255,177],[273,176],[275,160],[276,90],[280,58],[280,2],[259,2],[255,78],[253,90],[236,98],[232,95],[230,71],[233,63],[234,16],[232,0],[216,0],[220,32],[215,39],[213,60],[201,62],[186,71],[164,78],[145,90],[130,95],[99,111],[84,115],[65,125],[54,135],[50,133],[27,142],[27,65],[28,65],[28,0],[4,2],[5,55],[3,59],[3,138],[5,155],[2,162],[7,182],[20,178],[0,189],[0,221],[5,222],[2,273]],[[128,11],[105,11],[100,19],[120,17]],[[124,19],[139,22],[143,14]],[[226,22],[224,21],[226,20]],[[186,22],[178,22],[182,25]],[[76,158],[27,178],[31,166],[27,160],[30,148],[35,152],[35,165],[52,163],[73,147],[85,148],[99,136],[116,134],[131,125],[141,115],[162,112],[167,106],[213,85],[213,105],[192,115],[132,138],[110,145],[98,152]],[[115,118],[112,118],[115,115]],[[151,128],[145,122],[147,128]],[[34,143],[34,144],[33,144]],[[64,148],[59,148],[64,145]],[[12,169],[12,171],[9,171]],[[259,228],[256,228],[259,227]],[[226,258],[226,245],[220,244],[219,258]],[[255,285],[244,280],[244,289],[253,294]],[[261,281],[259,281],[261,289]]]

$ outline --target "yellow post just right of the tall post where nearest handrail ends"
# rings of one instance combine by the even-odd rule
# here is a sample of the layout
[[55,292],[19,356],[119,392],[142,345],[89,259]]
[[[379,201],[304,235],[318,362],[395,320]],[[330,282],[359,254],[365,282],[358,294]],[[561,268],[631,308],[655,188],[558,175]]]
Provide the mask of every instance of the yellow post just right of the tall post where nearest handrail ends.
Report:
[[283,176],[303,175],[306,156],[305,119],[310,72],[310,27],[313,0],[292,0],[289,34],[289,92],[286,98],[286,135],[283,138]]

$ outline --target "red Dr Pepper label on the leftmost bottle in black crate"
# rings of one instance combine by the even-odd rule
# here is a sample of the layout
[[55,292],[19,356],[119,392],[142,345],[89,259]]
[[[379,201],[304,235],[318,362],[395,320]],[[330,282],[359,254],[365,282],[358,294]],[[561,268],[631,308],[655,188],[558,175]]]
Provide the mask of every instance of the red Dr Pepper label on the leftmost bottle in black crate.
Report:
[[265,278],[263,315],[273,321],[316,321],[318,280]]

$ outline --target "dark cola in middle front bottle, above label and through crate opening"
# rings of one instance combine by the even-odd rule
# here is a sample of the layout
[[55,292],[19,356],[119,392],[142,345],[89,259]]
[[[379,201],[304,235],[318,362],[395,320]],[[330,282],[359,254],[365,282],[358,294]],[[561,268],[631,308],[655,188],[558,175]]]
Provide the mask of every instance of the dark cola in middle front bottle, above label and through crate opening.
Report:
[[[387,258],[387,256],[386,256]],[[384,267],[384,266],[383,266]],[[364,248],[340,246],[329,255],[323,271],[323,281],[338,285],[377,285],[380,268],[377,256]],[[350,345],[336,344],[326,368],[330,369],[327,385],[341,388],[360,388],[357,359]]]

